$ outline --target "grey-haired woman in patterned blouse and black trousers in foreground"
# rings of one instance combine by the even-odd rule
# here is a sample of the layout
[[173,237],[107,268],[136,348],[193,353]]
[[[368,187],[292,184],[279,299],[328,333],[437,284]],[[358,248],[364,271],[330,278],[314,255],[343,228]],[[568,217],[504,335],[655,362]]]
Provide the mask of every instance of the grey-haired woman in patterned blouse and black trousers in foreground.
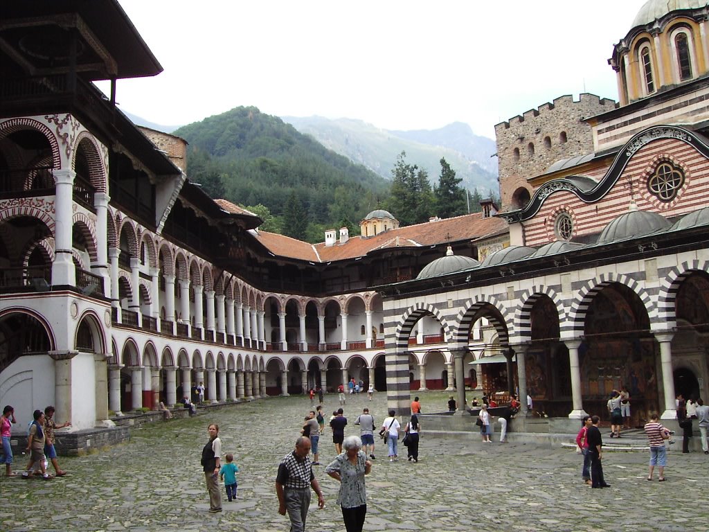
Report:
[[362,452],[362,440],[347,436],[342,441],[344,452],[325,467],[325,472],[340,482],[337,504],[342,508],[342,519],[347,532],[362,532],[367,515],[367,490],[364,475],[369,475],[372,462]]

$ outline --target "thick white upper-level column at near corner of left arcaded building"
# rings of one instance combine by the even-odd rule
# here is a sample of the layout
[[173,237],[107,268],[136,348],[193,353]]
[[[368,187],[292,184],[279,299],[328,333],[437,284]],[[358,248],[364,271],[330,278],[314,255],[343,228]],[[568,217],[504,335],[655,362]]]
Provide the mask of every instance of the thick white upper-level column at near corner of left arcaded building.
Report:
[[53,170],[52,173],[56,183],[52,284],[68,284],[73,287],[77,284],[74,260],[72,260],[72,205],[76,172]]

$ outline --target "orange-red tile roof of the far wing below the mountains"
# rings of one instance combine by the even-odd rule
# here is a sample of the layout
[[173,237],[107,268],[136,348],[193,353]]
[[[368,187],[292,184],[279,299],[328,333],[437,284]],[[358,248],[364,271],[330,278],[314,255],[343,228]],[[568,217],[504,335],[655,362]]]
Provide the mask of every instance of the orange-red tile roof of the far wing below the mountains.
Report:
[[283,235],[254,232],[257,240],[274,255],[311,262],[330,262],[363,257],[374,250],[386,248],[418,248],[461,240],[480,240],[508,231],[502,218],[483,218],[482,213],[466,214],[442,220],[419,223],[384,231],[375,236],[353,236],[345,243],[308,244]]

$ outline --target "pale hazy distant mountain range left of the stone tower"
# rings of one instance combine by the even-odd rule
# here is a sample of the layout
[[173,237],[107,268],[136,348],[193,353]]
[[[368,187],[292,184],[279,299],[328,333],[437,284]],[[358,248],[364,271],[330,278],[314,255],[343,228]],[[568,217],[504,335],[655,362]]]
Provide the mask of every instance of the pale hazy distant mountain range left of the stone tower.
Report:
[[313,135],[330,150],[345,155],[382,177],[391,179],[396,156],[406,152],[430,176],[440,173],[440,159],[445,160],[462,179],[462,186],[481,191],[498,189],[495,142],[474,135],[470,126],[453,123],[432,131],[387,131],[361,120],[320,116],[282,117],[301,133]]

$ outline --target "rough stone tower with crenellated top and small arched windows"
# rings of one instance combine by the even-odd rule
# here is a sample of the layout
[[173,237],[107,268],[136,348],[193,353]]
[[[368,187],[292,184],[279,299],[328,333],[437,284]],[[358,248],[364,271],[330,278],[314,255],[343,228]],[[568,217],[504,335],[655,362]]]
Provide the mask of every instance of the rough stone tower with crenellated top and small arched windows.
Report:
[[523,206],[533,193],[527,179],[558,160],[593,152],[591,126],[584,121],[615,109],[615,101],[566,94],[495,126],[503,209]]

